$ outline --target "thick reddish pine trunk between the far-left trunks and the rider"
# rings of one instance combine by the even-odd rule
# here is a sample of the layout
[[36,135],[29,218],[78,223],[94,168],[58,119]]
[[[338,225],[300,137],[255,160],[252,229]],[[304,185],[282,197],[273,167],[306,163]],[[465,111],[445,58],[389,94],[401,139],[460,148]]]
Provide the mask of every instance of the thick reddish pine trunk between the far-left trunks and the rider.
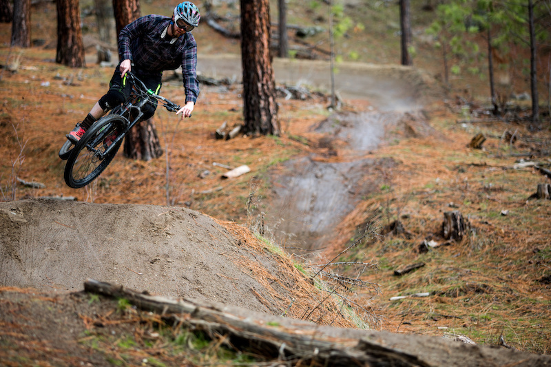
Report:
[[69,67],[83,67],[81,12],[78,0],[57,0],[56,63]]

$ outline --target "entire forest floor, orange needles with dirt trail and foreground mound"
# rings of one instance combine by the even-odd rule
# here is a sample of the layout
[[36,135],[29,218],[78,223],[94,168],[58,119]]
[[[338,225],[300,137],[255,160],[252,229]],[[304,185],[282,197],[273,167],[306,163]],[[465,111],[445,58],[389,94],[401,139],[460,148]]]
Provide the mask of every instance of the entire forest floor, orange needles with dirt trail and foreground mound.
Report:
[[[302,85],[312,93],[304,99],[280,96],[282,136],[216,140],[222,123],[241,122],[242,88],[203,86],[190,120],[156,114],[162,158],[141,162],[119,153],[90,187],[76,190],[63,182],[57,152],[67,130],[105,90],[112,68],[92,62],[67,69],[52,62],[51,45],[11,50],[10,25],[0,26],[4,65],[17,64],[17,72],[0,71],[0,184],[6,200],[0,305],[12,317],[1,324],[6,348],[0,359],[13,365],[153,364],[154,355],[176,363],[180,350],[163,355],[161,347],[177,335],[159,336],[149,328],[154,322],[138,328],[124,304],[81,293],[87,277],[272,315],[292,304],[289,315],[304,318],[323,299],[305,274],[329,262],[344,264],[325,269],[324,280],[334,282],[335,293],[349,300],[362,322],[321,309],[309,315],[313,321],[464,335],[477,344],[550,353],[551,200],[532,194],[537,184],[550,182],[537,167],[550,169],[551,132],[549,121],[545,129],[530,129],[526,101],[514,101],[505,116],[490,118],[470,94],[444,94],[419,72],[404,78],[402,67],[382,66],[371,74],[403,79],[411,91],[405,95],[415,96],[414,108],[396,112],[388,103],[401,100],[396,88],[373,83],[376,96],[344,90],[342,111],[331,112],[326,90],[314,86],[308,64],[300,61],[294,78],[280,86],[310,79]],[[91,48],[88,59],[93,57]],[[228,64],[234,62],[228,57]],[[309,70],[315,65],[320,63]],[[226,76],[219,67],[204,70],[206,76]],[[357,70],[370,74],[364,65]],[[167,97],[180,102],[180,91],[180,82],[165,81]],[[391,107],[383,107],[385,102]],[[366,126],[372,129],[356,129]],[[478,133],[486,136],[482,149],[468,147]],[[214,162],[248,165],[251,173],[225,180],[227,169]],[[25,187],[16,178],[45,187]],[[318,198],[313,187],[324,195]],[[76,201],[48,199],[71,197]],[[443,213],[452,210],[470,224],[457,242],[441,233]],[[393,223],[403,229],[392,231]],[[247,247],[236,246],[239,241]],[[423,266],[394,275],[411,264]],[[356,278],[363,282],[342,284]],[[43,317],[36,316],[37,307]],[[29,319],[50,323],[30,327]],[[70,332],[63,323],[72,325]],[[105,324],[111,328],[99,326]],[[132,326],[123,331],[126,325]],[[74,346],[63,343],[75,340],[83,349],[74,360],[63,359]],[[221,357],[200,335],[188,335],[185,344],[193,346],[185,352],[190,365],[251,358]]]

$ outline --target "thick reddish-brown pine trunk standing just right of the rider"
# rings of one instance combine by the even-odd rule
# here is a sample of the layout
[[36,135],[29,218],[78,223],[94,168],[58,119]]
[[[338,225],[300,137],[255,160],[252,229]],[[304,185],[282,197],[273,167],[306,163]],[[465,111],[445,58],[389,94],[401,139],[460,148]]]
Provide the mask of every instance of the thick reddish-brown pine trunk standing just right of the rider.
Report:
[[279,135],[270,55],[268,0],[241,0],[241,53],[245,134]]

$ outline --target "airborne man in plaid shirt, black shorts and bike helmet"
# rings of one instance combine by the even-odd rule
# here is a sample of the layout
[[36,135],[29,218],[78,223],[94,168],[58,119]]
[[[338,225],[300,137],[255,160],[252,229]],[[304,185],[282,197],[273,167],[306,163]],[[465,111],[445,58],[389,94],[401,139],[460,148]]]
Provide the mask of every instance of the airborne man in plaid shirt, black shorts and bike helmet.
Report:
[[[126,72],[132,70],[156,94],[160,90],[164,70],[175,70],[180,65],[184,76],[185,105],[176,112],[191,116],[199,95],[197,81],[197,44],[190,33],[199,25],[199,9],[184,1],[174,8],[172,18],[150,14],[127,25],[118,36],[118,54],[121,62],[111,78],[110,88],[92,107],[86,118],[67,134],[76,144],[94,122],[113,107],[126,101],[132,85],[125,83]],[[143,107],[142,120],[151,118],[156,106]]]

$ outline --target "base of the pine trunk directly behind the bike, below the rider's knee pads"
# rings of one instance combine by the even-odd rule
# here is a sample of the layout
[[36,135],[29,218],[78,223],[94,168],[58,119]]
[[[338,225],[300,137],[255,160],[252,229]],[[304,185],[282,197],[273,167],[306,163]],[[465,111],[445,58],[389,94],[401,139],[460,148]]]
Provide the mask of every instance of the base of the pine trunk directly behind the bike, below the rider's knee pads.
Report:
[[138,160],[152,160],[163,155],[153,120],[136,124],[125,138],[124,155]]

